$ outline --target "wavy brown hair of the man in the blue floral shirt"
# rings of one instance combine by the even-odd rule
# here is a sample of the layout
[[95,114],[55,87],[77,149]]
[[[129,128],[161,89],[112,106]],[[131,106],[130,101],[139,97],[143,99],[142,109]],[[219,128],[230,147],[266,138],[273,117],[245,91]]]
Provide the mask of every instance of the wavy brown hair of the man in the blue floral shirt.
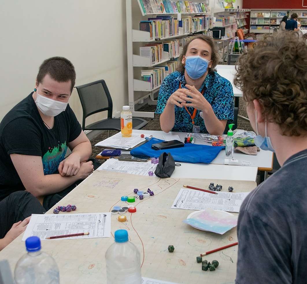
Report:
[[206,36],[206,35],[196,35],[193,36],[183,47],[181,55],[179,56],[179,63],[178,63],[178,67],[177,67],[177,71],[181,72],[182,74],[185,73],[185,66],[182,64],[182,58],[183,56],[187,53],[187,49],[188,49],[188,45],[196,39],[201,39],[203,41],[205,41],[207,44],[210,45],[211,50],[212,50],[212,54],[211,54],[211,60],[212,60],[212,66],[211,68],[208,69],[208,73],[213,73],[214,71],[216,71],[216,65],[219,61],[219,53],[216,50],[215,44],[214,44],[214,40],[212,37],[210,36]]

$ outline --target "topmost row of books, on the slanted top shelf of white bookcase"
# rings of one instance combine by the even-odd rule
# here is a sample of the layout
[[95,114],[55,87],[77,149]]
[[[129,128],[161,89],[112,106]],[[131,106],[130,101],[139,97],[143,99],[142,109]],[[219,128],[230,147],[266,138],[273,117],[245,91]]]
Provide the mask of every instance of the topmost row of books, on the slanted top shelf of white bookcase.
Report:
[[207,2],[176,0],[138,0],[142,15],[161,13],[208,13]]

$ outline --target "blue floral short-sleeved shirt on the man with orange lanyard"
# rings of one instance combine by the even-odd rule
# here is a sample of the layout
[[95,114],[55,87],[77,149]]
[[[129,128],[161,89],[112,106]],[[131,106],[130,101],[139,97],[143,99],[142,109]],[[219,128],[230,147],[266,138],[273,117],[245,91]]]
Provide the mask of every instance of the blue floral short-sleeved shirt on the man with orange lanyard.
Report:
[[[160,87],[158,103],[156,113],[161,114],[164,111],[167,100],[170,95],[179,88],[179,82],[181,82],[181,88],[185,88],[185,75],[179,71],[175,71],[165,77]],[[211,104],[212,109],[216,117],[220,120],[234,119],[234,98],[231,83],[214,72],[208,74],[201,85],[199,91],[204,89],[203,96]],[[192,114],[193,108],[188,107],[188,111]],[[204,119],[199,115],[200,110],[197,110],[194,118],[195,125],[200,126],[201,133],[208,133]],[[193,124],[192,119],[185,108],[179,108],[175,106],[175,125],[171,131],[177,132],[192,132]]]

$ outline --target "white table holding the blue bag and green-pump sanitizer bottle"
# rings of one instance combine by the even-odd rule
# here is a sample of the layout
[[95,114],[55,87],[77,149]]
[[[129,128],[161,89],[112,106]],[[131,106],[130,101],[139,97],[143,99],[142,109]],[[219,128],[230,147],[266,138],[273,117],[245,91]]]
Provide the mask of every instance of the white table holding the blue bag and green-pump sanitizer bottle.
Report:
[[[133,130],[134,133],[144,134],[146,136],[153,135],[153,137],[164,140],[163,134],[165,132],[163,131],[154,131],[154,130]],[[181,141],[184,141],[184,138],[187,133],[185,132],[170,132],[172,135],[178,135],[181,139]],[[210,143],[204,142],[200,139],[196,139],[196,144],[203,144],[203,145],[211,145]],[[221,151],[217,157],[211,162],[211,164],[215,165],[225,165],[224,163],[225,159],[225,152]],[[273,152],[271,151],[264,151],[260,150],[260,152],[257,153],[256,156],[253,155],[246,155],[243,153],[234,153],[234,159],[241,161],[247,161],[251,162],[251,165],[249,166],[243,166],[243,167],[256,167],[259,171],[271,171],[273,168]],[[188,164],[191,165],[191,164]],[[197,164],[200,165],[200,164]],[[239,165],[238,165],[239,166]],[[234,166],[234,167],[238,167]],[[227,165],[227,169],[230,167]],[[239,169],[238,169],[239,171]]]

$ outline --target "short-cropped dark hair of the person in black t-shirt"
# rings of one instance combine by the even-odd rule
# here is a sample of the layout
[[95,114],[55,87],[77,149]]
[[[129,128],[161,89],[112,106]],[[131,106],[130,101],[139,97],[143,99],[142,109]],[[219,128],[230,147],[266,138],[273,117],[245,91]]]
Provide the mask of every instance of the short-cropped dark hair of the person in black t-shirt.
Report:
[[41,83],[47,74],[49,74],[53,80],[58,82],[71,81],[72,92],[76,81],[76,72],[72,62],[70,62],[68,59],[60,56],[55,56],[44,60],[38,70],[36,77],[37,83]]

